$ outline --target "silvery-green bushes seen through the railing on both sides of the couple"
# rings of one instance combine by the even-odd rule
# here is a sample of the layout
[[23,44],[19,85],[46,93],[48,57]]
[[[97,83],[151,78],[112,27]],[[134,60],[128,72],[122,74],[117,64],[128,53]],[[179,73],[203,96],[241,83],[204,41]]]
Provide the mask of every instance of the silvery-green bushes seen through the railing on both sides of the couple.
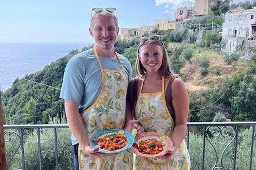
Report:
[[[65,118],[50,118],[49,124],[65,124]],[[230,121],[226,120],[226,116],[221,112],[217,112],[214,121]],[[225,169],[233,169],[233,146],[235,142],[232,138],[235,135],[235,129],[232,126],[226,126],[221,130],[221,134],[229,134],[226,136],[220,135],[220,127],[210,127],[205,140],[205,156],[204,168],[211,169],[214,166],[216,157],[218,158],[218,165],[222,160]],[[203,135],[200,133],[204,131],[202,127],[198,127],[196,131],[190,131],[189,152],[191,158],[191,169],[202,168],[202,153],[203,153]],[[37,131],[27,129],[24,132],[24,156],[25,156],[25,169],[39,169],[38,160],[38,143]],[[59,169],[73,169],[72,165],[72,149],[70,141],[70,131],[66,129],[57,129],[57,142],[58,142],[58,165]],[[238,143],[236,147],[236,169],[248,168],[251,152],[251,135],[252,127],[241,129],[238,135]],[[254,132],[256,135],[256,132]],[[15,151],[20,144],[20,138],[14,134],[10,134],[12,139],[6,142],[5,147],[7,150],[7,163],[10,170],[21,169],[22,156],[21,149],[16,154]],[[16,138],[15,138],[16,137]],[[55,146],[54,146],[54,129],[41,129],[41,168],[42,169],[56,169],[55,161]],[[227,147],[227,148],[226,148]],[[254,143],[256,148],[256,143]],[[215,152],[216,151],[216,152]],[[223,153],[223,155],[221,154]],[[254,150],[255,153],[255,150]],[[15,155],[12,159],[12,156]],[[255,154],[254,154],[255,155]],[[10,161],[12,159],[12,161]],[[256,166],[256,157],[252,157],[252,167]]]

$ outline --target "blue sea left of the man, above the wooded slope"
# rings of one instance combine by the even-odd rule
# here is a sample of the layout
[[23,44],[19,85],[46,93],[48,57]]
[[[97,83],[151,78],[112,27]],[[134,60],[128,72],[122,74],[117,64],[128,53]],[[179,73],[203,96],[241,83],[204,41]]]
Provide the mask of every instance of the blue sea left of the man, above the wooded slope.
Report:
[[16,78],[42,70],[73,49],[89,43],[0,43],[0,89],[5,91]]

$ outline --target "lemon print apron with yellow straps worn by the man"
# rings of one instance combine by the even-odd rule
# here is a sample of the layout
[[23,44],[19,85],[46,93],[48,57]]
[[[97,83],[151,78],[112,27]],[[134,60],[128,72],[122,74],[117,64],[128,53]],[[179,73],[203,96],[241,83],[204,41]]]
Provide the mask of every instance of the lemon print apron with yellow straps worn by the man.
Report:
[[[104,129],[123,129],[128,87],[128,77],[116,53],[115,56],[121,69],[105,70],[102,68],[98,53],[95,49],[93,51],[101,68],[102,89],[97,100],[80,113],[89,140],[96,132]],[[129,149],[105,158],[94,158],[85,155],[80,146],[78,152],[80,170],[132,170],[133,154]]]

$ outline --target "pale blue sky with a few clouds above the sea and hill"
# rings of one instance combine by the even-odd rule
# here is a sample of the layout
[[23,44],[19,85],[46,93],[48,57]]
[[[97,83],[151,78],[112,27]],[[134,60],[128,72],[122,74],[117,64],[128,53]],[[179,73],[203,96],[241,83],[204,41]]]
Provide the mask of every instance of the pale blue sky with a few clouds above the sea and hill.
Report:
[[154,25],[195,0],[0,0],[1,42],[93,42],[91,9],[115,7],[119,27]]

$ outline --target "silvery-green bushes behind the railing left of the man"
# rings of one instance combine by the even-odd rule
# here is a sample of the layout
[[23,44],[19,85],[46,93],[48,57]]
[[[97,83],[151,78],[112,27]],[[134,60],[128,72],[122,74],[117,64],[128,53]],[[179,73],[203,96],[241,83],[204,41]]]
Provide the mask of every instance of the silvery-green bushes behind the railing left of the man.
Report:
[[[66,124],[65,118],[49,118],[49,124]],[[41,169],[55,169],[55,145],[54,129],[40,129],[41,141]],[[38,159],[38,133],[36,129],[24,131],[24,157],[25,169],[39,169]],[[22,169],[22,153],[18,149],[20,138],[15,134],[9,134],[10,141],[5,142],[8,169]],[[57,129],[58,162],[59,169],[73,169],[71,132],[68,128]],[[18,152],[15,154],[16,149]],[[14,156],[14,157],[13,157]],[[13,157],[13,158],[12,158]]]

